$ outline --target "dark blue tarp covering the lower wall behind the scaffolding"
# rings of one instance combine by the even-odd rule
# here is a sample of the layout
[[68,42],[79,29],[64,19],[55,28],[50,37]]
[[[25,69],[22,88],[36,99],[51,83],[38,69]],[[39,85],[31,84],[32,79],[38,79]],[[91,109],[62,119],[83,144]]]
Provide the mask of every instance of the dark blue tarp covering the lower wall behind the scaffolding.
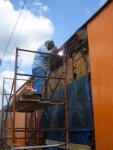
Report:
[[[88,76],[84,76],[67,86],[68,109],[69,109],[69,141],[71,143],[88,144],[89,131],[93,129],[91,92]],[[47,95],[49,98],[51,94]],[[53,99],[63,99],[63,88],[56,90]],[[47,108],[41,121],[40,128],[54,129],[65,128],[64,107],[54,105]],[[55,134],[55,136],[51,136]],[[62,141],[56,133],[46,133],[46,138],[50,140]],[[60,135],[60,134],[59,134]],[[51,137],[51,138],[50,138]],[[54,137],[56,137],[54,139]]]

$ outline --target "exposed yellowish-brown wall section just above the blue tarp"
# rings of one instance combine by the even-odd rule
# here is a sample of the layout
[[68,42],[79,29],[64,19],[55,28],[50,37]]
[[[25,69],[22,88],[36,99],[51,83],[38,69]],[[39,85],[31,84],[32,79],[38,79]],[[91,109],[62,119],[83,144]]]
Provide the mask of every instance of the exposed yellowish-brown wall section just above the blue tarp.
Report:
[[[84,54],[80,51],[73,52],[72,56],[68,58],[67,61],[67,84],[73,82],[74,80],[78,80],[79,78],[85,76],[88,73],[87,69],[87,54]],[[63,77],[63,66],[60,66],[57,70],[51,72],[50,76],[52,77]],[[49,79],[47,84],[47,93],[52,92],[55,89],[58,79]],[[63,80],[60,80],[57,88],[63,87]]]

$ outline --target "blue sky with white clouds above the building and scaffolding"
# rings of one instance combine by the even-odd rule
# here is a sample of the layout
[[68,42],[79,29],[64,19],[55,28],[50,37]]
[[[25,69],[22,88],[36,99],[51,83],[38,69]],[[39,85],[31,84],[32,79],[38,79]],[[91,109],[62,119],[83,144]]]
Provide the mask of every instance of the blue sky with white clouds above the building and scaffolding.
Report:
[[[0,0],[0,106],[4,77],[14,76],[16,47],[36,50],[51,39],[59,48],[106,0]],[[31,73],[33,55],[19,53],[21,73]],[[25,77],[22,77],[25,78]],[[6,81],[6,91],[12,81]],[[18,83],[21,85],[22,82]]]

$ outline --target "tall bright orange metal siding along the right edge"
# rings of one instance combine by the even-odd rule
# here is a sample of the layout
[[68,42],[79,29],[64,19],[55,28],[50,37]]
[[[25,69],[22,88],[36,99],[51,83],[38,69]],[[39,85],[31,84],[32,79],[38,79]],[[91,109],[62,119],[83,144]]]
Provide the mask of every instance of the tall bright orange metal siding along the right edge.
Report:
[[96,150],[113,150],[113,1],[87,28]]

